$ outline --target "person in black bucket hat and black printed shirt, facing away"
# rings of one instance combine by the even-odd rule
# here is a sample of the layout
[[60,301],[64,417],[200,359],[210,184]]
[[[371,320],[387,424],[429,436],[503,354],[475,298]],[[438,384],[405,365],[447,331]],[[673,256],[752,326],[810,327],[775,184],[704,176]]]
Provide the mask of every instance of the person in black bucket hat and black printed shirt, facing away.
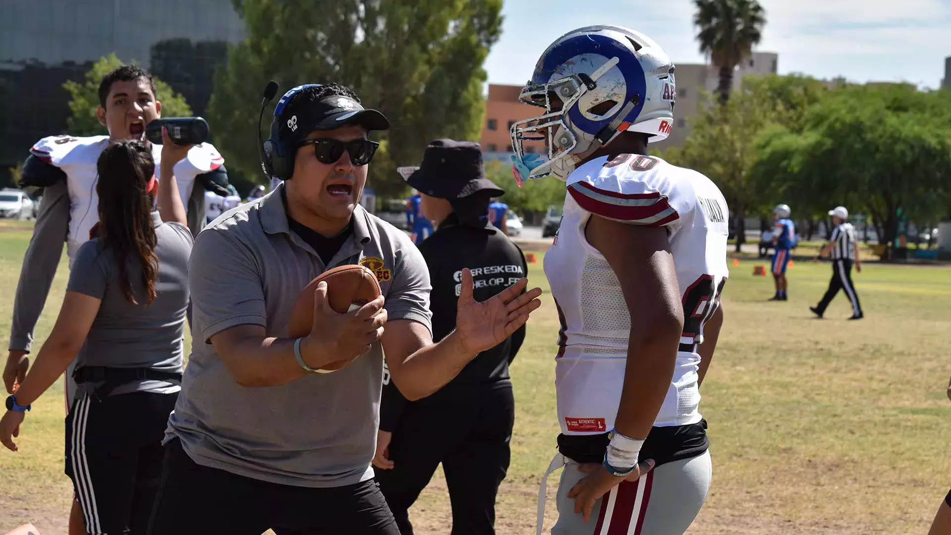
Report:
[[[422,195],[437,227],[419,245],[433,291],[433,339],[456,327],[462,268],[472,268],[476,301],[526,275],[521,249],[488,221],[490,199],[505,191],[485,177],[477,143],[437,139],[418,168],[398,168]],[[509,365],[525,339],[522,326],[480,353],[448,385],[407,402],[383,374],[377,452],[373,464],[402,535],[412,535],[408,510],[439,463],[453,506],[453,533],[495,533],[495,494],[509,467],[514,398]]]

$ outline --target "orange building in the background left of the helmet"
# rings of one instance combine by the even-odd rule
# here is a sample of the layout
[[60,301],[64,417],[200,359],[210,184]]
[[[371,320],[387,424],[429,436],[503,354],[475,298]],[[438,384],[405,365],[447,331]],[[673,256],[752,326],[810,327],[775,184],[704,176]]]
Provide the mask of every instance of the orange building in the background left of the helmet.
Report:
[[[518,100],[521,86],[489,84],[489,98],[485,103],[485,123],[482,124],[482,145],[485,160],[509,160],[512,152],[511,128],[515,121],[536,117],[545,109],[530,106]],[[528,152],[543,152],[545,143],[530,141],[525,144]]]

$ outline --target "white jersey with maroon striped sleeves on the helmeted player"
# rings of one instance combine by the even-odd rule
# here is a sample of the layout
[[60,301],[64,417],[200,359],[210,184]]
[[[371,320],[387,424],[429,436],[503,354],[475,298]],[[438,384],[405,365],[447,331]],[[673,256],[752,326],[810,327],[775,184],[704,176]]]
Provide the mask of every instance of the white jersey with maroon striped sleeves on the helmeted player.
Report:
[[[558,420],[570,435],[614,426],[628,360],[631,314],[618,275],[585,238],[591,214],[668,229],[683,298],[677,365],[654,426],[700,421],[696,345],[728,277],[727,202],[703,174],[653,156],[621,154],[585,163],[568,178],[564,215],[545,254],[561,332],[555,360]],[[636,358],[636,357],[635,357]]]

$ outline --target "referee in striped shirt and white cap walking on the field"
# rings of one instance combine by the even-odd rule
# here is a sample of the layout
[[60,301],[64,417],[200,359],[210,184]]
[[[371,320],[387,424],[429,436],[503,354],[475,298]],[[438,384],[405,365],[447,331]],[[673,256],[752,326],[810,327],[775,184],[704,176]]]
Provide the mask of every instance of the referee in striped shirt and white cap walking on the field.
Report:
[[823,300],[815,307],[809,307],[812,312],[823,317],[825,308],[832,302],[835,294],[840,289],[845,291],[848,300],[852,303],[852,317],[850,320],[861,320],[864,318],[862,305],[859,304],[859,294],[855,292],[855,286],[852,284],[852,265],[855,269],[862,272],[862,263],[859,262],[859,242],[855,239],[855,228],[848,220],[848,210],[845,207],[836,207],[829,210],[832,216],[832,222],[836,228],[832,230],[832,237],[829,243],[825,244],[819,256],[826,254],[832,260],[832,280],[829,281],[829,288],[825,290]]

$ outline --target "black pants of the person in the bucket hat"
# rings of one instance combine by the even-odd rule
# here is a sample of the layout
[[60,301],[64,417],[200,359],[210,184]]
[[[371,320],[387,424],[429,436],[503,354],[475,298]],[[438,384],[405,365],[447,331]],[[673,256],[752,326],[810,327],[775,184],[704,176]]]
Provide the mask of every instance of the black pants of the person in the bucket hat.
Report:
[[453,535],[495,533],[495,495],[511,454],[514,398],[509,382],[467,395],[435,394],[408,404],[390,443],[394,467],[374,467],[402,535],[413,535],[409,508],[439,463],[453,507]]

